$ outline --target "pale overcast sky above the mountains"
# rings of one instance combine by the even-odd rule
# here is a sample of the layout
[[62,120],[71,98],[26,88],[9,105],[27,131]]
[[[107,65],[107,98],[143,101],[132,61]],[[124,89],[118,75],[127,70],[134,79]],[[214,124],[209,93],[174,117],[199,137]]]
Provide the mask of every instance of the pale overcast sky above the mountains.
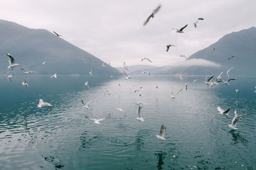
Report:
[[[161,9],[143,22],[161,4]],[[8,0],[0,16],[29,28],[56,31],[61,38],[112,66],[179,63],[225,34],[256,25],[255,0]],[[196,18],[205,20],[195,28]],[[172,28],[188,24],[185,33]],[[173,44],[166,52],[166,45]]]

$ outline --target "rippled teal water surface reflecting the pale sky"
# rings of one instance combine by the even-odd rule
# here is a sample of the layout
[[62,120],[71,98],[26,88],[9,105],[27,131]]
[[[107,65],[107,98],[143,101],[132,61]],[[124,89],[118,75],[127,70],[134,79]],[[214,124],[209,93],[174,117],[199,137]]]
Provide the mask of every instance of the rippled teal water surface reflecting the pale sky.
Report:
[[[256,169],[253,78],[217,87],[206,87],[204,77],[186,76],[26,79],[28,88],[0,77],[1,169]],[[172,100],[170,89],[185,89],[185,83],[188,90]],[[52,107],[36,108],[38,99]],[[81,99],[93,101],[89,109]],[[143,103],[144,122],[135,120],[137,102]],[[217,115],[217,106],[230,108],[231,118]],[[249,113],[236,131],[228,127],[235,109]],[[86,117],[106,119],[95,124]],[[155,137],[161,124],[163,144]]]

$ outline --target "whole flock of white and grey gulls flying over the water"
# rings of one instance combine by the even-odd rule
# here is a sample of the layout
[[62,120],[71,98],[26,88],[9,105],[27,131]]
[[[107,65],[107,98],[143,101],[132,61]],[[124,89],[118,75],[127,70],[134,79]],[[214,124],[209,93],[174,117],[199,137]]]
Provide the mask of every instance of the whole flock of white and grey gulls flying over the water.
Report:
[[[154,16],[155,16],[156,13],[160,10],[160,8],[161,8],[161,5],[157,6],[157,8],[156,8],[154,11],[152,11],[152,13],[149,15],[149,17],[147,18],[147,20],[145,20],[145,22],[143,23],[143,25],[147,25],[147,23],[149,22],[150,18],[154,18]],[[199,23],[200,20],[204,20],[204,18],[197,18],[196,22],[194,23],[194,26],[195,26],[195,27],[198,26],[198,23]],[[178,32],[178,33],[184,33],[184,29],[186,29],[186,27],[188,27],[188,24],[184,25],[184,27],[181,27],[180,29],[174,29],[174,30],[175,30],[176,32]],[[56,36],[58,36],[58,37],[61,36],[61,35],[58,34],[57,32],[55,32],[55,31],[53,31],[53,32],[54,32],[54,34],[56,34]],[[171,46],[175,46],[175,45],[166,45],[166,52],[168,52],[168,50],[170,49]],[[215,50],[215,48],[212,48],[212,50]],[[10,53],[7,53],[7,56],[9,57],[9,60],[8,60],[8,62],[9,62],[8,69],[12,69],[12,70],[13,70],[13,67],[20,66],[20,64],[16,64],[16,63],[15,63],[15,59],[14,59],[14,57],[13,57]],[[180,55],[180,57],[184,57],[185,59],[187,59],[187,57],[185,57],[185,55]],[[231,56],[231,57],[228,57],[228,60],[232,60],[232,59],[234,59],[234,57],[235,57],[234,55]],[[148,62],[152,62],[150,59],[148,59],[148,58],[146,58],[146,57],[144,57],[143,59],[141,59],[141,61],[143,61],[143,60],[148,60]],[[44,64],[45,64],[45,61],[42,62],[42,65],[44,65]],[[105,66],[106,66],[106,65],[103,63],[103,64],[102,64],[102,67],[105,67]],[[109,63],[109,66],[111,66],[110,63]],[[125,62],[124,62],[124,64],[123,64],[123,67],[124,67],[124,69],[125,69],[126,71],[129,71],[129,66],[127,66],[127,64],[126,64]],[[218,83],[225,83],[225,85],[229,85],[230,81],[237,80],[237,78],[230,78],[230,76],[229,76],[229,72],[230,72],[230,70],[233,69],[233,68],[234,68],[234,67],[230,67],[230,69],[227,70],[228,80],[223,80],[223,78],[221,77],[221,74],[223,74],[223,72],[221,72],[221,73],[217,76],[216,80],[214,80],[214,81],[212,81],[212,78],[214,78],[214,75],[206,76],[204,83],[205,83],[206,85],[208,85],[209,87],[212,87],[213,85],[218,85]],[[36,71],[26,71],[26,70],[23,69],[23,68],[22,68],[21,70],[22,70],[25,74],[36,73]],[[125,72],[125,70],[124,70],[125,79],[128,80],[128,79],[132,78],[127,72]],[[142,74],[148,74],[148,75],[150,76],[150,73],[149,73],[148,71],[143,71],[143,69],[141,69],[141,71],[142,71],[142,72],[141,72]],[[91,71],[89,72],[89,74],[90,74],[90,76],[92,76],[92,69],[91,69]],[[12,81],[13,75],[14,75],[14,74],[8,75],[8,79],[9,79],[10,81]],[[52,74],[51,78],[56,79],[57,76],[58,76],[58,73],[55,73],[55,74]],[[23,78],[23,79],[24,79],[24,81],[22,81],[22,85],[28,87],[28,81],[27,81],[25,78]],[[180,76],[180,80],[182,80],[182,76]],[[195,81],[198,81],[198,80],[194,80],[193,83],[195,83]],[[84,83],[84,85],[85,85],[86,87],[90,88],[90,86],[88,85],[88,81],[86,81],[86,83]],[[118,84],[118,85],[121,86],[121,84]],[[186,89],[188,89],[188,83],[185,84],[185,87],[186,87]],[[140,87],[140,89],[142,89],[142,87]],[[140,89],[135,90],[134,93],[139,92]],[[158,89],[158,85],[156,85],[156,89]],[[255,89],[256,89],[256,87],[255,87]],[[108,91],[108,89],[105,88],[105,90],[106,90],[106,92],[108,93],[108,95],[111,94],[111,93]],[[177,94],[179,94],[180,91],[182,91],[182,89],[180,89],[177,93],[174,94],[173,91],[172,91],[172,89],[171,89],[171,90],[170,90],[171,98],[172,98],[172,99],[175,99],[175,96],[177,96]],[[239,91],[239,90],[236,89],[236,93],[237,93],[238,91]],[[254,92],[256,93],[256,90],[255,90]],[[140,95],[140,96],[141,96],[141,95]],[[86,108],[86,109],[88,109],[88,108],[89,108],[89,104],[92,103],[93,101],[89,101],[88,103],[84,103],[84,101],[81,100],[81,102],[83,103],[83,107]],[[136,119],[136,120],[139,120],[140,122],[143,122],[144,120],[143,120],[143,117],[142,117],[142,115],[141,115],[141,108],[142,108],[141,104],[142,104],[142,103],[136,103],[136,104],[138,105],[138,107],[137,107],[137,117],[136,117],[135,119]],[[38,106],[38,108],[42,108],[42,107],[44,107],[44,106],[46,106],[46,107],[51,107],[52,105],[49,104],[49,103],[44,102],[42,99],[39,99],[39,103],[38,103],[37,106]],[[118,110],[118,111],[120,111],[120,112],[124,111],[124,110],[122,110],[122,108],[116,108],[116,110]],[[217,110],[219,111],[219,113],[217,113],[218,115],[223,115],[223,116],[225,116],[226,118],[230,118],[230,116],[228,115],[228,112],[230,111],[230,108],[228,108],[227,110],[223,110],[222,108],[220,108],[220,106],[218,106]],[[236,125],[237,125],[237,122],[238,122],[239,118],[240,118],[240,117],[245,117],[245,116],[248,115],[248,114],[246,114],[246,115],[238,115],[236,110],[234,111],[234,113],[235,113],[235,116],[234,116],[234,118],[232,119],[231,124],[229,124],[228,126],[229,126],[230,128],[232,128],[232,129],[237,129],[237,128],[236,128]],[[95,124],[100,124],[100,121],[104,120],[106,117],[96,119],[96,118],[90,118],[90,117],[87,117],[87,116],[86,116],[86,118],[89,118],[90,120],[92,120],[93,122],[95,122]],[[163,140],[165,140],[165,138],[164,138],[165,133],[166,133],[166,127],[164,127],[164,125],[161,125],[160,132],[159,132],[159,134],[156,135],[156,138],[161,139],[161,143],[163,143]]]

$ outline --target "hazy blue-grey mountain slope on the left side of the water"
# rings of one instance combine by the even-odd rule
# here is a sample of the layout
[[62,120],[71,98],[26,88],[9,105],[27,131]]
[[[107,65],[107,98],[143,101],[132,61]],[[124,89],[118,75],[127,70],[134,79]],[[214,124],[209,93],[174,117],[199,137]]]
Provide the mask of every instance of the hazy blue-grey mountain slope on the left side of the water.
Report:
[[[57,31],[58,32],[58,31]],[[15,62],[39,74],[120,74],[118,70],[81,48],[45,29],[29,29],[14,22],[0,20],[0,73],[6,73],[11,53]],[[45,64],[42,65],[42,62]],[[102,63],[106,67],[102,67]]]

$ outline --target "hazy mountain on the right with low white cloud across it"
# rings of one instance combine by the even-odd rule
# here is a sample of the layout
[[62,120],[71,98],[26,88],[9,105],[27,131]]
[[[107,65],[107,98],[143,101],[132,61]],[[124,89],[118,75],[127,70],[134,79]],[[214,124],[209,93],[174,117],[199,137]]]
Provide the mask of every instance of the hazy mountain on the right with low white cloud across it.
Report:
[[[234,56],[232,59],[229,57]],[[256,27],[232,32],[216,43],[191,55],[175,66],[149,68],[151,74],[220,74],[234,67],[230,73],[256,75]],[[141,74],[133,71],[131,74]]]

